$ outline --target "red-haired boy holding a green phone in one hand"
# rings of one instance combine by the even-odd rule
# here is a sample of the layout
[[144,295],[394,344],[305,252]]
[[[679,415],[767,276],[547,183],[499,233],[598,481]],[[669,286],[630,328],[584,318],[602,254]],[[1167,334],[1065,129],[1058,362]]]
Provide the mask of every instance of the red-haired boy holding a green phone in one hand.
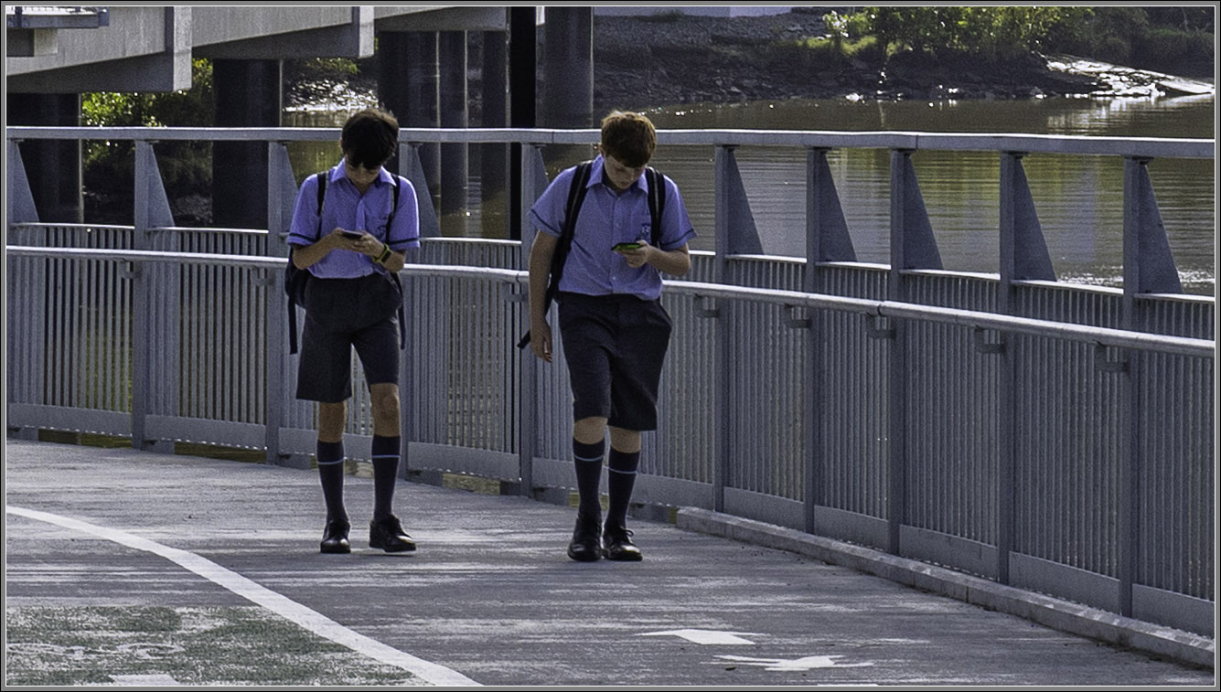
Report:
[[[656,146],[657,133],[647,117],[615,111],[602,120],[598,156],[558,287],[580,497],[568,557],[580,561],[641,559],[626,528],[626,513],[640,464],[640,433],[657,430],[657,388],[670,338],[670,319],[659,300],[661,272],[687,272],[687,240],[695,237],[678,186],[663,177],[659,243],[651,244],[645,168]],[[543,295],[575,171],[556,176],[530,210],[540,231],[530,249],[530,343],[547,362],[552,334]],[[598,482],[608,427],[609,508],[603,525]]]

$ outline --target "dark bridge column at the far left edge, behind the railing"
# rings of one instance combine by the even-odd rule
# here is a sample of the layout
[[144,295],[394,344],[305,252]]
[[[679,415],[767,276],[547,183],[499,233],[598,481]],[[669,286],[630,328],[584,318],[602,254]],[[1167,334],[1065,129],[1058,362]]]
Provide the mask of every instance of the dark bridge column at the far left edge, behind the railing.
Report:
[[[6,100],[9,124],[81,124],[79,94],[9,94]],[[23,142],[21,159],[26,164],[26,176],[39,220],[82,223],[84,198],[81,189],[81,142]]]

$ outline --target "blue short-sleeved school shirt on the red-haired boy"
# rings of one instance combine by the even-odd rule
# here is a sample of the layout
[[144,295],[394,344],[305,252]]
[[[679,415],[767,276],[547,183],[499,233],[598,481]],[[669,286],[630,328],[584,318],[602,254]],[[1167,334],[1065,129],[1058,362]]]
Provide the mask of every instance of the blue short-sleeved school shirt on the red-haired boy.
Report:
[[[641,173],[636,182],[618,193],[603,182],[603,159],[593,160],[589,192],[576,215],[573,247],[564,262],[559,290],[586,295],[617,293],[656,300],[662,294],[662,275],[652,265],[637,269],[610,249],[617,243],[646,240],[652,243],[652,217],[648,214],[648,178]],[[576,167],[560,171],[538,201],[530,207],[530,218],[540,232],[559,237],[567,214],[568,190]],[[695,237],[691,218],[679,187],[669,177],[665,182],[665,206],[662,210],[662,250],[676,250]]]

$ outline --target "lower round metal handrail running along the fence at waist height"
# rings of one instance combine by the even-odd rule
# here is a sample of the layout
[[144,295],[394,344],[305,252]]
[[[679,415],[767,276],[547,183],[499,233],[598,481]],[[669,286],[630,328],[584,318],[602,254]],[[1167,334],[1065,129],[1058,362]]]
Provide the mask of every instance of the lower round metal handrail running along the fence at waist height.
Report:
[[[15,256],[78,260],[115,260],[115,261],[154,261],[175,264],[245,266],[252,269],[283,269],[287,259],[252,258],[247,255],[221,255],[209,253],[160,253],[151,250],[105,250],[90,248],[35,248],[13,245],[7,253]],[[403,271],[411,276],[440,276],[502,281],[527,286],[529,272],[520,270],[501,270],[473,266],[442,266],[408,264]],[[690,281],[663,282],[667,289],[680,294],[702,298],[720,298],[728,300],[755,300],[785,305],[790,308],[808,308],[818,310],[839,310],[858,312],[867,316],[889,319],[919,320],[960,325],[977,330],[996,330],[1024,333],[1038,337],[1054,337],[1074,342],[1095,343],[1112,348],[1154,349],[1194,358],[1216,358],[1216,342],[1187,337],[1171,337],[1128,330],[1054,322],[1031,317],[1016,317],[982,312],[978,310],[960,310],[902,303],[897,300],[871,300],[866,298],[844,298],[822,293],[803,293],[797,290],[775,290],[763,288],[731,287]]]

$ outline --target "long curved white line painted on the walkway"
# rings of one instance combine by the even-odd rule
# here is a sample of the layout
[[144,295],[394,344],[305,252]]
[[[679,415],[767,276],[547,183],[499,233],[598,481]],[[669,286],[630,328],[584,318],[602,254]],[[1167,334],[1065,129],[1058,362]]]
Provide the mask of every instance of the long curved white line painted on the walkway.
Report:
[[65,528],[81,531],[83,533],[92,533],[99,538],[104,538],[121,546],[127,546],[128,548],[160,555],[214,583],[232,591],[242,598],[252,600],[272,613],[300,625],[302,627],[305,627],[315,635],[343,644],[349,649],[371,659],[402,668],[411,675],[420,677],[425,682],[437,686],[479,686],[479,682],[475,682],[457,670],[451,670],[443,665],[416,658],[409,653],[404,653],[383,644],[377,640],[354,632],[321,613],[310,610],[295,600],[281,596],[270,588],[263,587],[249,578],[194,553],[162,546],[154,541],[149,541],[148,538],[140,538],[139,536],[127,533],[126,531],[106,528],[104,526],[68,519],[57,514],[11,505],[5,506],[5,510],[10,514],[16,514],[17,516],[55,524],[63,526]]

